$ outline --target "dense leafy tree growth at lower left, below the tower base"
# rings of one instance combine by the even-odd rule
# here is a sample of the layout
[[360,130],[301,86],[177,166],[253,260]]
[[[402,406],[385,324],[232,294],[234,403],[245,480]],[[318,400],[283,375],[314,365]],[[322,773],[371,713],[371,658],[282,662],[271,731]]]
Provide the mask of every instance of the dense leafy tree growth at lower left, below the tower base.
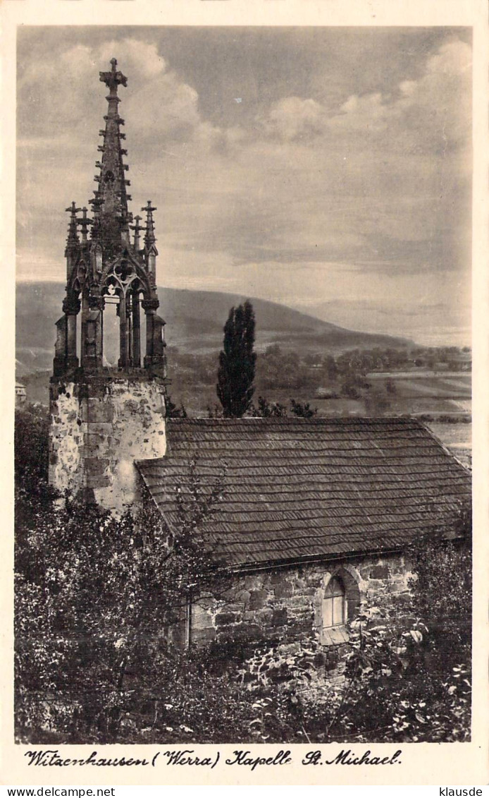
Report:
[[119,741],[128,717],[142,728],[153,698],[172,689],[187,600],[227,587],[201,535],[223,475],[204,485],[190,464],[170,529],[151,500],[117,519],[96,505],[30,492],[37,467],[34,456],[29,469],[18,468],[18,739]]

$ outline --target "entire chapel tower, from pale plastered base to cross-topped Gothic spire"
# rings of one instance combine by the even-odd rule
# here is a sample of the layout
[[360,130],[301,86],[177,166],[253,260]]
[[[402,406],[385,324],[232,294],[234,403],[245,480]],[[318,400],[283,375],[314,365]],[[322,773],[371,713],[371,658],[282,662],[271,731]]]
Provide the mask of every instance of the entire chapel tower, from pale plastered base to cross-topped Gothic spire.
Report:
[[[144,227],[142,217],[133,219],[128,210],[117,95],[127,78],[115,58],[100,81],[109,89],[108,113],[89,200],[92,218],[75,202],[67,208],[66,294],[50,382],[49,481],[119,513],[136,498],[134,461],[166,451],[165,322],[157,314],[156,208],[151,200],[142,208]],[[113,367],[104,358],[104,310],[110,304],[119,318]]]

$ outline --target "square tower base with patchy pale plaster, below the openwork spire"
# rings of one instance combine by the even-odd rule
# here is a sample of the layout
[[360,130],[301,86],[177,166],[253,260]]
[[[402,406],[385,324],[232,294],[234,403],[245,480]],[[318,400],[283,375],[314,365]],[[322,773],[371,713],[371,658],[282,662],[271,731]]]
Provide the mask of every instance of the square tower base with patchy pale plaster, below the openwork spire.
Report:
[[53,382],[49,481],[120,513],[136,499],[135,460],[166,452],[165,400],[156,379]]

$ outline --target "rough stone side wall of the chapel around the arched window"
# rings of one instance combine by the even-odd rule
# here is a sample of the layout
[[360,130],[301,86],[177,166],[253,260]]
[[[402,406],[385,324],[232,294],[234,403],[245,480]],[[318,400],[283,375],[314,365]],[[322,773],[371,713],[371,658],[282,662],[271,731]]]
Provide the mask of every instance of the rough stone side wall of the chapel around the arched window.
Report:
[[322,630],[323,591],[333,575],[340,576],[346,587],[350,619],[359,602],[374,606],[386,589],[407,598],[412,573],[402,555],[378,555],[244,575],[225,599],[203,598],[194,603],[192,641],[285,643],[317,630],[324,645],[340,645],[346,641],[344,630]]

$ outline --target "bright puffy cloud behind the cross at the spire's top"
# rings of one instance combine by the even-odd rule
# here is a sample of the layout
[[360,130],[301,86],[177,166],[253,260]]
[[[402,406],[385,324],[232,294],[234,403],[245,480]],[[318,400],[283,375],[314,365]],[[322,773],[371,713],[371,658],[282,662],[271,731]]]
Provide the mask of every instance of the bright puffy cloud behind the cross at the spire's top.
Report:
[[[127,89],[119,90],[121,113],[137,119],[139,135],[158,131],[171,136],[199,124],[197,92],[168,68],[157,45],[125,38],[92,47],[75,45],[50,53],[41,64],[29,64],[18,84],[21,135],[52,136],[78,124],[92,132],[100,121],[100,106],[93,102],[94,80],[100,69],[109,69],[111,57],[117,57],[119,68],[127,73],[131,93],[126,101]],[[100,86],[101,95],[103,91]]]

